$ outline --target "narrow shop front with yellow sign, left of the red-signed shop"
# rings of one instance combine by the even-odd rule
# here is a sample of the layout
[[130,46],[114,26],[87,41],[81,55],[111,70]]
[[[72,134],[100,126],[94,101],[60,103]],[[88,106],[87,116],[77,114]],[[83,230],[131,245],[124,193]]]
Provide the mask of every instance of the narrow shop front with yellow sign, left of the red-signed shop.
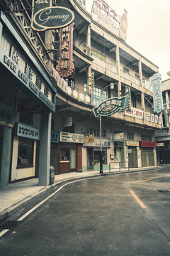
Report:
[[129,168],[138,167],[139,145],[139,142],[126,141],[126,160],[128,161]]

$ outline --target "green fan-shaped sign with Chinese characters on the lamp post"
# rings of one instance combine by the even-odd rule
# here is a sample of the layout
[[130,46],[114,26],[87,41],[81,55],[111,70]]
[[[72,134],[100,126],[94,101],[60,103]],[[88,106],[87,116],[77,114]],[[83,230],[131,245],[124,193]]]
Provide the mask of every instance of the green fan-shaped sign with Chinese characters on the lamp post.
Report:
[[98,116],[109,116],[115,114],[119,110],[123,110],[127,107],[128,97],[113,97],[108,100],[101,102],[98,107],[94,107],[94,115]]

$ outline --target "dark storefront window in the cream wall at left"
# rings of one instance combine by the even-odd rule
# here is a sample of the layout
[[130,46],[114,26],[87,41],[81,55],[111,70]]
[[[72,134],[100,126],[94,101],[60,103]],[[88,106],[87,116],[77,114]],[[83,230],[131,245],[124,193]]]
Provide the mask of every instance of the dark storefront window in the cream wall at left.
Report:
[[33,139],[19,138],[18,168],[33,166]]

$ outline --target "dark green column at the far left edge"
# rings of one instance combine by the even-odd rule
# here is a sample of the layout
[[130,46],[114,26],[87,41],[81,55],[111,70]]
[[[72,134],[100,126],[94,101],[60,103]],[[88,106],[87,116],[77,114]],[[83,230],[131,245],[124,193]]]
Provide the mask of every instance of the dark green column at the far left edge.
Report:
[[0,187],[6,186],[8,184],[9,172],[10,172],[10,158],[11,158],[11,132],[10,127],[3,127],[2,130],[2,155],[1,155],[1,165],[0,165]]

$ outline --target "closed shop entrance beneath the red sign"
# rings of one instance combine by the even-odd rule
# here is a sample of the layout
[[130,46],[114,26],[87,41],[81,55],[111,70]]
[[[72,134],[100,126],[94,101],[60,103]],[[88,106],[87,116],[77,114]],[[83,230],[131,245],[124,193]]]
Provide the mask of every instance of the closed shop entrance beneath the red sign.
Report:
[[154,150],[153,149],[141,149],[142,167],[154,166]]

